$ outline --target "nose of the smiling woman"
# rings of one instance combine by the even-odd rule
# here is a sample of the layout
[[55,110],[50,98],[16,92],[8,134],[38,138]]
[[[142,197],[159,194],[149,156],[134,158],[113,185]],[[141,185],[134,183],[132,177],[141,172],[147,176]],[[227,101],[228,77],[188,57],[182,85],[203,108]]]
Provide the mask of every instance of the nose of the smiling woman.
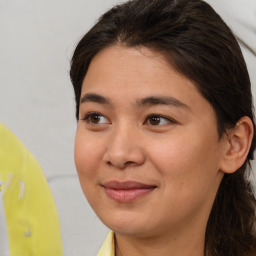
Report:
[[140,146],[140,140],[140,135],[131,129],[116,129],[109,138],[103,160],[118,169],[142,165],[145,162],[145,153]]

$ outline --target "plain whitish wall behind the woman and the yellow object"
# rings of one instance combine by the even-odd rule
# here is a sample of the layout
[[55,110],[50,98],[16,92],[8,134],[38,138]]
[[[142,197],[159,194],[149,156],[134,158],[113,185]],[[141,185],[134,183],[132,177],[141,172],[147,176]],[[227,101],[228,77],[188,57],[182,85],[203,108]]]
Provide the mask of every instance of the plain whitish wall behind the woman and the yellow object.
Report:
[[[68,256],[96,255],[107,232],[86,203],[76,177],[69,60],[81,36],[118,2],[0,0],[0,122],[41,164],[56,200]],[[256,1],[208,2],[256,51]],[[255,95],[256,57],[244,47],[243,51]]]

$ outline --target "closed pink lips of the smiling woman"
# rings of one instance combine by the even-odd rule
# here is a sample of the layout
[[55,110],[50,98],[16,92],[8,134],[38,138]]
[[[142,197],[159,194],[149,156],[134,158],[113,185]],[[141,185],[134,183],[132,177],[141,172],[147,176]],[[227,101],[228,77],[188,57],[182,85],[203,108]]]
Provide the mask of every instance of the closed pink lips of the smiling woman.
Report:
[[107,196],[119,203],[129,203],[148,195],[157,186],[136,181],[109,181],[102,185]]

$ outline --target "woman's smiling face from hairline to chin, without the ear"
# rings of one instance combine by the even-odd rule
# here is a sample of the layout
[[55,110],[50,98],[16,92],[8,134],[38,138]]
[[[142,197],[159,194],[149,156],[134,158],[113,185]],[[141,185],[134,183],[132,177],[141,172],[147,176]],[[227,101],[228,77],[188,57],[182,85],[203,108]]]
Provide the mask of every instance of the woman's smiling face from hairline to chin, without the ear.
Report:
[[147,48],[111,46],[82,85],[75,163],[109,228],[149,236],[204,231],[225,139],[195,85]]

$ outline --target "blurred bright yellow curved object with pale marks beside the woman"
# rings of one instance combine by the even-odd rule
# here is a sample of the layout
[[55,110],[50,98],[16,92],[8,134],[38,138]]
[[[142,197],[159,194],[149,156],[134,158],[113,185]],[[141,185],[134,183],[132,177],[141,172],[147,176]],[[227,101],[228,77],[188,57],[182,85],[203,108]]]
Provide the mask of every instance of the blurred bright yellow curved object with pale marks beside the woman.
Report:
[[10,256],[61,256],[59,218],[44,174],[34,156],[2,124],[0,191]]

